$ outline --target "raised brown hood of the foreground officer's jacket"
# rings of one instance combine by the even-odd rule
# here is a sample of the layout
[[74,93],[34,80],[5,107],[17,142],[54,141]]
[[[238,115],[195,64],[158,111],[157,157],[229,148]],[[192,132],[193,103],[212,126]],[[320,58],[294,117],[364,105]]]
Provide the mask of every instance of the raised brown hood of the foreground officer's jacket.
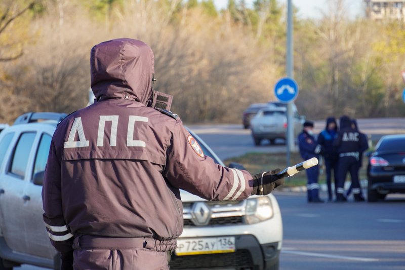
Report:
[[146,105],[152,95],[154,56],[141,41],[118,38],[95,45],[90,71],[97,101],[123,98]]

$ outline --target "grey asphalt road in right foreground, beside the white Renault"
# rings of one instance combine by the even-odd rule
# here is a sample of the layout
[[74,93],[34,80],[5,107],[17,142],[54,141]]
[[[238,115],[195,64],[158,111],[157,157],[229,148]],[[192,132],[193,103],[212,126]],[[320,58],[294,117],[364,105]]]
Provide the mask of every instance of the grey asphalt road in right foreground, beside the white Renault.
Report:
[[274,195],[284,227],[281,270],[405,269],[404,195],[372,204],[308,204],[303,192]]

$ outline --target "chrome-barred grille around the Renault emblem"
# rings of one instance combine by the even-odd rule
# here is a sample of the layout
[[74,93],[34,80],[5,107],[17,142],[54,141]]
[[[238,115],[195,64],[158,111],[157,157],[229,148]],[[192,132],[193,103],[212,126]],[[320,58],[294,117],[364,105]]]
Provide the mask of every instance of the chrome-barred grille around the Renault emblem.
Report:
[[[239,225],[245,223],[246,201],[204,202],[210,210],[209,221],[204,226]],[[193,219],[193,205],[183,203],[184,226],[199,226]]]

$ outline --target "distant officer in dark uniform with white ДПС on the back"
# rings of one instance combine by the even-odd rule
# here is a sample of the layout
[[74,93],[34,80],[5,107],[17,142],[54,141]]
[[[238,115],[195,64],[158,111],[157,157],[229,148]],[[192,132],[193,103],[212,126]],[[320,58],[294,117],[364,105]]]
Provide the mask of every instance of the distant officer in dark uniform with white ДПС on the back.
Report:
[[[360,183],[358,180],[358,162],[360,159],[363,138],[359,132],[351,127],[351,120],[346,115],[340,118],[340,131],[335,140],[335,146],[339,153],[337,202],[346,202],[344,183],[347,172],[352,181],[352,192],[355,201],[362,201],[360,196]],[[363,199],[364,200],[364,199]]]

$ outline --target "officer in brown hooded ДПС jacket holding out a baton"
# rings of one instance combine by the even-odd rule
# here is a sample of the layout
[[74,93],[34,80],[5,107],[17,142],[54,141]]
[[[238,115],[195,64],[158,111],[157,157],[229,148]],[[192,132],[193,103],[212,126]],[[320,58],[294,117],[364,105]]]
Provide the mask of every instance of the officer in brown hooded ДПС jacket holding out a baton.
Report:
[[153,74],[143,42],[91,50],[97,101],[56,128],[42,192],[62,269],[168,269],[183,229],[180,188],[243,200],[284,183],[278,170],[252,176],[205,156],[177,115],[159,108],[171,96],[153,90]]

